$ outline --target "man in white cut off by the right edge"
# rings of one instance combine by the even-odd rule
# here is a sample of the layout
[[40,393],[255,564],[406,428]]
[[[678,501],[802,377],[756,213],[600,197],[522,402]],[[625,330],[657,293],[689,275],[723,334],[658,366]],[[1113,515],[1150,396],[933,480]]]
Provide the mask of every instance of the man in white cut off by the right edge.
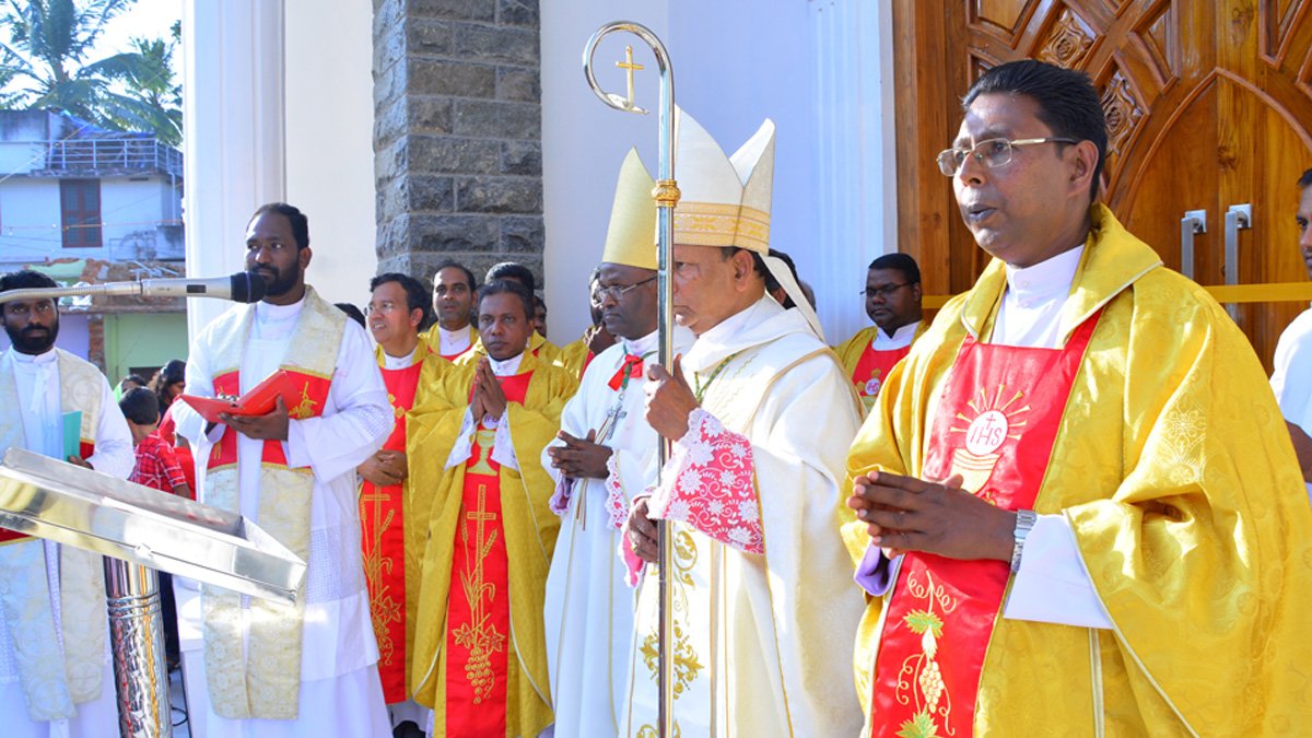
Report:
[[[1299,177],[1299,255],[1312,277],[1312,169]],[[1312,495],[1312,309],[1304,310],[1275,344],[1271,390],[1299,454],[1303,481]]]

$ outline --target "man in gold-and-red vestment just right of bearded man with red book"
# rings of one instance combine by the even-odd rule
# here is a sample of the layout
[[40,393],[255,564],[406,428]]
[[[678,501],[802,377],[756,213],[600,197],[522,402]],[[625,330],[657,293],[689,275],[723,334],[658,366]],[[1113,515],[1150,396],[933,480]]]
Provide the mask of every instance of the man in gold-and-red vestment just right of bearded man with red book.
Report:
[[428,710],[408,699],[405,680],[415,647],[419,571],[432,495],[409,483],[405,414],[415,404],[424,361],[436,365],[434,377],[441,374],[442,366],[450,366],[445,358],[430,356],[428,341],[419,335],[426,303],[424,285],[408,274],[388,272],[370,281],[365,314],[377,341],[374,357],[383,373],[396,425],[383,448],[356,469],[361,477],[361,542],[383,697],[392,726],[412,722],[416,730],[428,724]]

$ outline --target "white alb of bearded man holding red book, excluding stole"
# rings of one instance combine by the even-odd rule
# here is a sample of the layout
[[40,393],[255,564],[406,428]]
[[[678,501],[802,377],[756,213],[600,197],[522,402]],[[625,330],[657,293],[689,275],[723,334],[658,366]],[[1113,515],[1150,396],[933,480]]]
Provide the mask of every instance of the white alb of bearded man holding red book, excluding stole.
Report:
[[[303,303],[256,305],[240,366],[243,393],[283,362]],[[218,336],[209,330],[193,343],[186,365],[188,394],[214,395],[211,361],[218,343]],[[174,406],[177,432],[195,448],[197,487],[205,502],[205,460],[223,427],[215,425],[206,436],[203,418],[185,403]],[[392,423],[387,389],[369,339],[363,328],[346,320],[323,414],[289,420],[283,441],[287,465],[310,467],[315,474],[310,502],[310,561],[300,594],[306,605],[298,718],[237,721],[219,717],[213,709],[192,716],[193,721],[205,721],[209,738],[391,734],[375,666],[378,642],[369,617],[369,591],[361,561],[356,466],[382,448]],[[257,525],[262,443],[237,436],[241,515]],[[194,626],[201,629],[199,622]]]

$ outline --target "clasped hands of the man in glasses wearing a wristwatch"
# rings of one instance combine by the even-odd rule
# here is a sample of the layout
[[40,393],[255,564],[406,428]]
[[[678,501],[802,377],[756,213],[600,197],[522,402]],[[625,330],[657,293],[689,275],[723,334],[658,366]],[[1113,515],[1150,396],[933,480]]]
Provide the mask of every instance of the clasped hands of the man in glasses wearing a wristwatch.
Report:
[[855,478],[848,507],[888,555],[925,552],[956,559],[1010,561],[1015,513],[962,488],[962,477],[917,479],[888,471]]

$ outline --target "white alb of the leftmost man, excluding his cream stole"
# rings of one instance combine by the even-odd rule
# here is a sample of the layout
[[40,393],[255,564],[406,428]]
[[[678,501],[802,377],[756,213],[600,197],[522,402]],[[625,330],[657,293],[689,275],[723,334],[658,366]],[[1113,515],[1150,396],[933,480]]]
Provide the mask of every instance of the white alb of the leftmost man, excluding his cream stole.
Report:
[[[63,458],[63,398],[60,397],[60,376],[58,349],[39,356],[28,356],[14,349],[0,353],[0,362],[12,370],[17,395],[17,407],[0,407],[0,412],[10,415],[22,424],[22,446],[30,452],[51,458]],[[96,424],[96,452],[85,461],[93,469],[112,477],[126,479],[133,473],[135,456],[133,436],[127,422],[114,402],[109,382],[100,378],[101,414]],[[7,446],[0,443],[0,454]],[[46,573],[51,591],[59,591],[59,544],[43,541],[46,549]],[[51,597],[55,615],[55,632],[60,632],[60,601]],[[105,611],[100,613],[97,628],[109,629]],[[106,637],[106,645],[108,645]],[[114,693],[114,671],[106,650],[104,655],[104,676],[100,697],[77,705],[77,713],[70,720],[33,721],[28,716],[22,684],[18,679],[13,636],[4,619],[0,619],[0,716],[4,717],[4,735],[12,738],[109,738],[118,735],[118,699]]]

